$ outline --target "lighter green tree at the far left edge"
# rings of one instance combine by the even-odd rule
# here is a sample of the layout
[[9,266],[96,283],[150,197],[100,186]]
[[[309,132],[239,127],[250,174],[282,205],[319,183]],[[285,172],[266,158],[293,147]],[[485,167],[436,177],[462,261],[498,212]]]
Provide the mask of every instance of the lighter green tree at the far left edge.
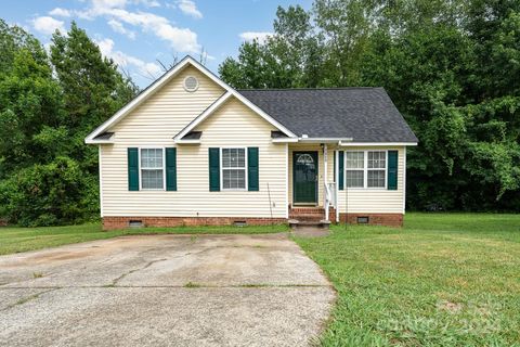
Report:
[[50,65],[25,48],[10,54],[12,65],[0,80],[0,179],[41,163],[48,149],[35,139],[63,120],[61,89]]

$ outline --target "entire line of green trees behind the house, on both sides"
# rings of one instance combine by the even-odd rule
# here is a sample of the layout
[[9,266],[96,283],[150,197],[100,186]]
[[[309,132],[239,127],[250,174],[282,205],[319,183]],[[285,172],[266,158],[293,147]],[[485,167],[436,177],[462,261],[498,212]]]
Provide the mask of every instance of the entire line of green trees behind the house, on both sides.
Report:
[[[74,23],[46,50],[0,20],[0,218],[98,218],[98,149],[83,140],[136,86]],[[520,210],[519,1],[278,8],[273,35],[219,73],[236,88],[385,87],[419,138],[408,209]]]

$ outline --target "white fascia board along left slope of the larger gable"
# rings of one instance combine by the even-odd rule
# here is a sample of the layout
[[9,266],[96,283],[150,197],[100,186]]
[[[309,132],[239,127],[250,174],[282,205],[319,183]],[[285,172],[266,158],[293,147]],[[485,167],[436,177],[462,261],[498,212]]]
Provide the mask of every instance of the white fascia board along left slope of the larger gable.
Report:
[[96,136],[108,129],[110,126],[119,121],[122,117],[128,115],[132,112],[136,106],[139,106],[143,101],[148,99],[152,94],[154,94],[160,87],[162,87],[167,81],[169,81],[173,76],[176,76],[181,69],[186,66],[186,64],[193,64],[193,57],[185,56],[179,64],[177,64],[168,73],[162,75],[159,79],[157,79],[151,87],[145,89],[141,94],[135,97],[132,101],[126,104],[122,108],[120,108],[114,116],[108,118],[104,121],[101,126],[99,126],[94,131],[92,131],[87,139],[84,140],[86,143],[99,143],[99,142],[88,142],[89,140],[93,140]]

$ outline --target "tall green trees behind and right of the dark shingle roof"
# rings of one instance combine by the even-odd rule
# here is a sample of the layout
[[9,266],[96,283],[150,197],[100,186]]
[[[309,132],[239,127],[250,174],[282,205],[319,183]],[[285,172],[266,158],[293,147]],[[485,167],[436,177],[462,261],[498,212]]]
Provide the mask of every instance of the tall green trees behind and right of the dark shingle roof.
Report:
[[384,87],[419,139],[407,208],[520,210],[520,1],[315,0],[239,47],[236,88]]

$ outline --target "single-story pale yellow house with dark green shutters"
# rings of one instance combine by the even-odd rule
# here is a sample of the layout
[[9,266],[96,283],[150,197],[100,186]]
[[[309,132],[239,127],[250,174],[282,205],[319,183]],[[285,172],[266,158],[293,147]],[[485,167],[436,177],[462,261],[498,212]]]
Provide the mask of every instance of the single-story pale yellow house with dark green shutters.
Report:
[[105,229],[401,226],[417,138],[382,88],[235,90],[186,56],[86,143]]

